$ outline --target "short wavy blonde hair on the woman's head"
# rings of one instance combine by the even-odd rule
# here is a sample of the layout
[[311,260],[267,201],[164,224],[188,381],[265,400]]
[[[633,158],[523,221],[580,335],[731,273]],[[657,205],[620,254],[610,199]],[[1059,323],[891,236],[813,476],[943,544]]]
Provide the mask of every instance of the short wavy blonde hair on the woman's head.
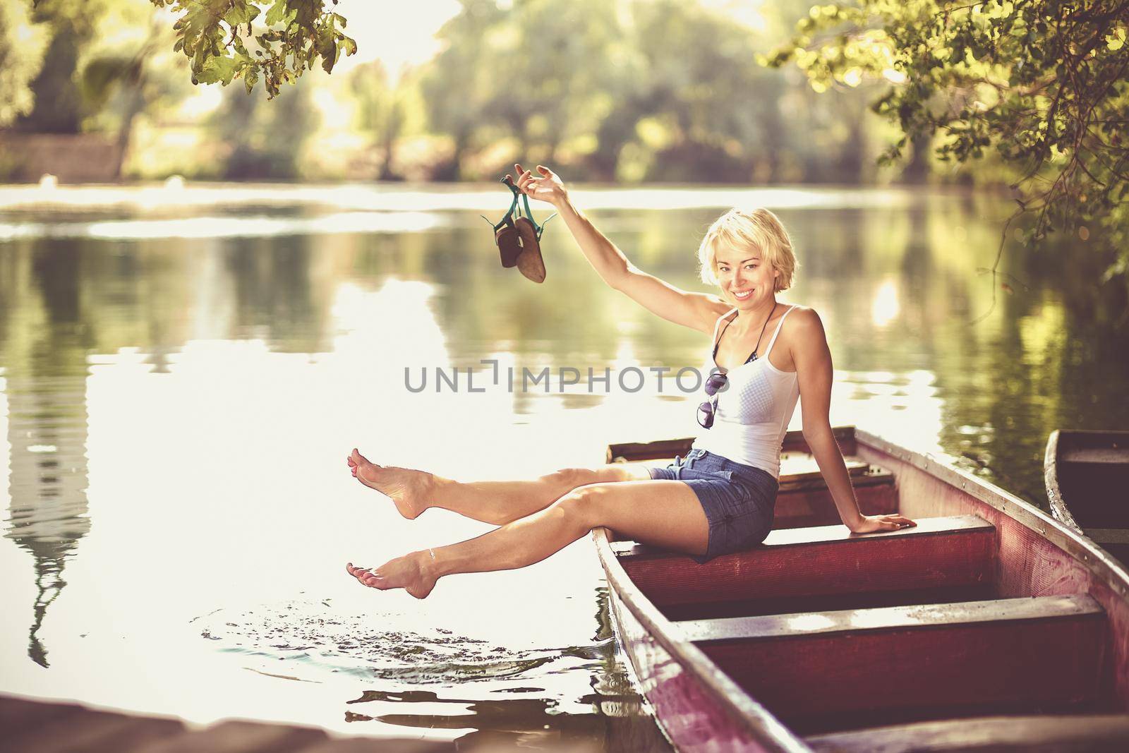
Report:
[[776,279],[776,292],[791,287],[796,268],[796,254],[791,249],[791,238],[780,219],[767,209],[738,209],[734,207],[706,230],[706,237],[698,246],[699,274],[706,284],[719,284],[717,279],[717,249],[727,246],[736,251],[752,248],[761,260],[780,272]]

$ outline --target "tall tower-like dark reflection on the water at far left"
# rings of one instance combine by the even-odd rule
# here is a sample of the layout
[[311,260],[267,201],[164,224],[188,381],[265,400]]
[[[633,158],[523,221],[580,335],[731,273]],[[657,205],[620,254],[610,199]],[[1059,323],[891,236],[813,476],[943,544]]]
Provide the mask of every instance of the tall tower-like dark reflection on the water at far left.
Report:
[[50,245],[34,257],[9,259],[3,273],[3,299],[11,301],[5,312],[11,497],[5,537],[34,560],[27,655],[42,667],[50,662],[40,629],[67,585],[67,561],[90,531],[79,261],[77,249]]

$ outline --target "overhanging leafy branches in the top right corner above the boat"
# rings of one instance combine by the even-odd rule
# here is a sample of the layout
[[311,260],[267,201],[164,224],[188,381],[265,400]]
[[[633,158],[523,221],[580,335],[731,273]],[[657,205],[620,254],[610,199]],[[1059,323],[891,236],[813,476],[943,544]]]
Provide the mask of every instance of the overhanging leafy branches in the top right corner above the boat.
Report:
[[[858,0],[815,6],[786,45],[813,88],[887,84],[875,112],[940,160],[994,152],[1013,172],[1024,231],[1123,233],[1129,198],[1129,0]],[[1122,252],[1122,264],[1124,263]]]

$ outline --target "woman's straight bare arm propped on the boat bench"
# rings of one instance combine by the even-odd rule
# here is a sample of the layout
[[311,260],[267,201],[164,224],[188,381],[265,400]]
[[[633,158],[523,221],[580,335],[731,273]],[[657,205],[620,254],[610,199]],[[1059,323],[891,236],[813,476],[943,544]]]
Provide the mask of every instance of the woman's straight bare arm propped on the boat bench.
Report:
[[811,308],[800,308],[790,317],[791,357],[799,382],[800,413],[804,418],[804,439],[820,465],[828,490],[843,524],[855,533],[893,531],[917,525],[901,515],[863,515],[855,499],[855,489],[847,473],[842,450],[831,431],[831,349],[823,332],[820,315]]

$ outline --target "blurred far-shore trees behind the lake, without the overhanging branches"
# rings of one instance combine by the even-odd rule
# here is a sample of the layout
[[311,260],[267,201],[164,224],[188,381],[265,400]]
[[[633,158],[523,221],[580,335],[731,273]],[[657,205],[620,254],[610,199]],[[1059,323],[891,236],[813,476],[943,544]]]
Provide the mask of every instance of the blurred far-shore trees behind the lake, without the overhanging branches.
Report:
[[[350,1],[332,10],[360,12]],[[250,69],[235,70],[231,86],[203,84],[230,65],[209,63],[225,69],[211,76],[207,60],[174,50],[189,7],[5,3],[0,145],[24,143],[16,134],[102,139],[106,174],[126,180],[493,180],[517,159],[551,163],[572,181],[861,184],[900,174],[875,167],[894,131],[868,112],[873,89],[820,95],[800,71],[758,62],[808,0],[461,0],[435,23],[429,59],[385,63],[353,23],[359,54],[323,45],[300,78],[282,71],[270,102],[261,79],[246,93]],[[231,3],[252,16],[239,44],[251,50],[266,20],[297,24],[288,7]],[[316,32],[324,19],[308,17]],[[236,46],[222,51],[234,60]],[[18,157],[0,160],[0,173],[37,180]]]

